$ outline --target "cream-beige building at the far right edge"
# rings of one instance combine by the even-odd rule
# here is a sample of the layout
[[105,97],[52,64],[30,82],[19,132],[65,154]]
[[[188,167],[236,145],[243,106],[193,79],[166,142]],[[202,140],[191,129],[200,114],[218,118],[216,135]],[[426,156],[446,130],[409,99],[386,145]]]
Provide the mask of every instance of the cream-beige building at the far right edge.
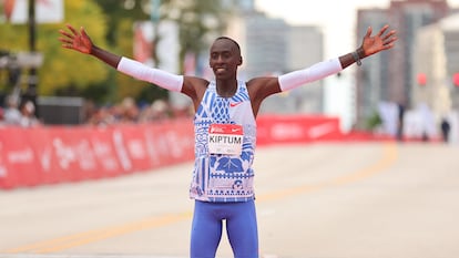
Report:
[[[412,105],[428,106],[434,123],[446,118],[451,127],[451,142],[459,141],[459,14],[418,30],[414,48],[411,85]],[[439,126],[438,126],[439,127]]]

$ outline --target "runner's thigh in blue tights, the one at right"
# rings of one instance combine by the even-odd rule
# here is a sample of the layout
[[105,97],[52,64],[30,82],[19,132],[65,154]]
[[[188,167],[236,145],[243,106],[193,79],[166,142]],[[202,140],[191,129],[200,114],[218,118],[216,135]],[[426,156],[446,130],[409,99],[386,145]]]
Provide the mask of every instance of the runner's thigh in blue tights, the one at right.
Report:
[[226,230],[235,258],[258,257],[258,229],[255,203],[238,203],[226,218]]

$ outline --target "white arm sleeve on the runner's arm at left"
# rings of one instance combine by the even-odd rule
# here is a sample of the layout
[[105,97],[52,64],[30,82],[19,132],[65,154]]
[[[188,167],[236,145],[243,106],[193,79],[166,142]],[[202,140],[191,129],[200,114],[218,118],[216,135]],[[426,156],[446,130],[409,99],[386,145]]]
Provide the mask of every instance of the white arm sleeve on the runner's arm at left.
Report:
[[135,79],[154,83],[170,91],[182,91],[183,75],[176,75],[159,69],[150,68],[132,59],[124,56],[121,58],[116,70]]

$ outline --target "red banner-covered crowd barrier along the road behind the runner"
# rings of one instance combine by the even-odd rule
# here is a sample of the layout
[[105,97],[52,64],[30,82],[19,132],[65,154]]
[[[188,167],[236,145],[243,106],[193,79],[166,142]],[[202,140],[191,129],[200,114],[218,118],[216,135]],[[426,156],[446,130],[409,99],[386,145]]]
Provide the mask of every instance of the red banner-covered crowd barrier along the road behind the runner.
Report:
[[[344,140],[339,120],[263,115],[257,144]],[[114,177],[190,162],[191,118],[112,126],[0,127],[0,189]]]

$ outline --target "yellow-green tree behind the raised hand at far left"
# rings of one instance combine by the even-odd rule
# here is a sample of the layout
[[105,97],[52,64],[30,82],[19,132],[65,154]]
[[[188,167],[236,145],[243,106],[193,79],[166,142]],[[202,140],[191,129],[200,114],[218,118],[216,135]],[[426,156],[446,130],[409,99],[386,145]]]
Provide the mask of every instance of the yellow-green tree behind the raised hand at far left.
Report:
[[[72,23],[91,28],[93,40],[106,47],[106,22],[101,8],[93,0],[65,1],[64,6],[65,19],[62,23],[37,25],[37,50],[44,56],[43,65],[38,69],[39,95],[54,95],[69,86],[80,91],[91,83],[105,80],[108,75],[104,64],[63,50],[58,41],[58,30],[64,23]],[[29,51],[27,24],[0,24],[0,49],[11,53]]]

